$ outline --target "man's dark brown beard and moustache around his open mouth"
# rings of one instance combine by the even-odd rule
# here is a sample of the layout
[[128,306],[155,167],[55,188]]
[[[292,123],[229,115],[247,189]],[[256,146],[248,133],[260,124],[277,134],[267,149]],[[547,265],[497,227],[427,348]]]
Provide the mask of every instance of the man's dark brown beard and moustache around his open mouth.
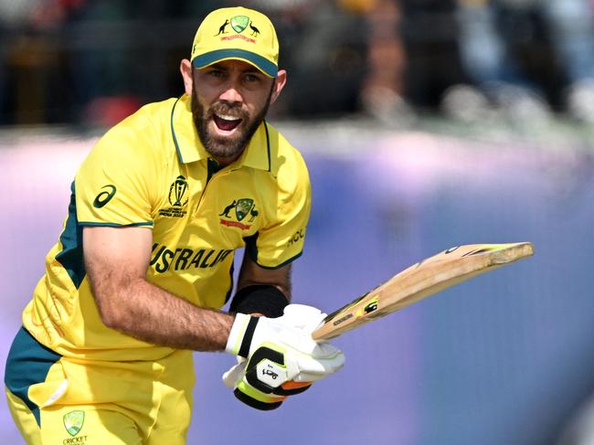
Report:
[[[264,121],[266,113],[270,107],[270,98],[272,97],[272,88],[264,103],[264,106],[258,113],[250,119],[249,112],[241,108],[241,105],[232,106],[225,102],[217,101],[206,109],[198,100],[196,84],[192,88],[192,117],[200,141],[204,145],[208,154],[216,159],[228,158],[235,160],[248,145],[249,140],[258,130],[260,123]],[[208,122],[214,120],[214,115],[226,114],[241,119],[236,131],[229,136],[219,136],[208,131]],[[215,123],[216,124],[216,123]]]

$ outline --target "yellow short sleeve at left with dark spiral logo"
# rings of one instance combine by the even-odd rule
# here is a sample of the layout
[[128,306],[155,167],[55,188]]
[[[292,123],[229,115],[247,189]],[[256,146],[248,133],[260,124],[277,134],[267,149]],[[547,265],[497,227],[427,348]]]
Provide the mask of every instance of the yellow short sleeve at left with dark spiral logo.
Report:
[[138,121],[129,118],[107,132],[81,164],[75,178],[81,226],[153,226],[152,153]]

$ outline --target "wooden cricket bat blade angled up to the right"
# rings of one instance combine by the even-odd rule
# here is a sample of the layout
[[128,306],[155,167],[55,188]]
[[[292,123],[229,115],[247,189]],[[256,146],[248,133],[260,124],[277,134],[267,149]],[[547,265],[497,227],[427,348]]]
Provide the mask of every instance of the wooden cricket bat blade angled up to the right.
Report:
[[329,340],[362,324],[394,313],[414,302],[481,273],[531,256],[529,242],[468,244],[444,250],[402,270],[377,288],[324,318],[312,337]]

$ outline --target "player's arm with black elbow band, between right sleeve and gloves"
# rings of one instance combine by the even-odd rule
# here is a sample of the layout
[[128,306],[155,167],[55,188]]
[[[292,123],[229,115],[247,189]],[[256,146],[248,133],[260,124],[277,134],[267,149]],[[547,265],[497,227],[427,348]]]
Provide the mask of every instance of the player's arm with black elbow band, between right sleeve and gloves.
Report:
[[264,269],[244,255],[239,270],[238,291],[229,311],[275,318],[291,302],[291,264]]

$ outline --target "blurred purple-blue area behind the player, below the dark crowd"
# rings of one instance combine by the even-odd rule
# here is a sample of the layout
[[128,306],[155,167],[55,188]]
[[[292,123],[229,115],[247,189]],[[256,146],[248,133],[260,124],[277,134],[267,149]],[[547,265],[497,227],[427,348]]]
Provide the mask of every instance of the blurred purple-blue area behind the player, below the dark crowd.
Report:
[[[594,393],[592,155],[429,132],[366,133],[348,150],[323,133],[287,132],[313,184],[294,302],[334,311],[458,244],[532,241],[536,254],[338,338],[345,368],[277,411],[234,399],[220,380],[231,357],[196,354],[188,443],[555,443]],[[3,362],[92,142],[1,143]],[[21,443],[4,403],[0,430]]]

